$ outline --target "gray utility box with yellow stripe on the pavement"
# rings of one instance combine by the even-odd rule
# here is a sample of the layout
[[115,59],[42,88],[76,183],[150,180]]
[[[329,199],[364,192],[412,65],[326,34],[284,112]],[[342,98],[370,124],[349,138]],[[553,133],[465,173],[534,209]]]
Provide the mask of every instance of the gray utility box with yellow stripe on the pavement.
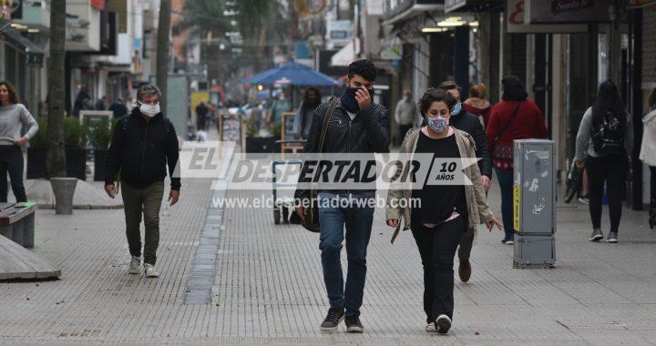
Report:
[[556,262],[556,169],[554,142],[521,139],[513,144],[515,268],[551,267]]

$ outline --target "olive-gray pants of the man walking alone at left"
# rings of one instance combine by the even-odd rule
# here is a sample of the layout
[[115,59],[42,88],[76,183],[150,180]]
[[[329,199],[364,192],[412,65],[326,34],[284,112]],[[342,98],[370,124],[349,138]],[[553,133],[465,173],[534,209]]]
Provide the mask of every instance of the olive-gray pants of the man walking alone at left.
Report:
[[159,208],[164,197],[164,181],[152,183],[145,188],[132,188],[123,183],[121,188],[130,254],[141,257],[139,225],[141,224],[141,214],[143,214],[145,226],[144,263],[155,265],[159,246]]

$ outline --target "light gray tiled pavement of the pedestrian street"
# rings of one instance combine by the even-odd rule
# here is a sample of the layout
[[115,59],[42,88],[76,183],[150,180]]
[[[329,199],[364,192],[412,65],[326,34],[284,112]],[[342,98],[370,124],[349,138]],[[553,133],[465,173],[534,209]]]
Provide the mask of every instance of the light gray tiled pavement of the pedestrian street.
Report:
[[[209,179],[183,181],[162,209],[158,280],[127,274],[122,210],[39,210],[35,251],[61,280],[0,283],[5,343],[656,344],[656,230],[625,211],[620,243],[591,244],[583,206],[559,208],[552,270],[511,269],[512,249],[482,231],[470,283],[456,283],[450,335],[426,335],[419,256],[409,233],[394,246],[377,210],[369,247],[363,335],[323,335],[317,236],[273,225],[269,209],[226,209],[211,303],[186,304],[210,208]],[[496,188],[496,187],[495,187]],[[255,197],[269,191],[228,191]],[[497,209],[497,191],[490,200]],[[607,225],[607,219],[604,219]],[[198,264],[198,263],[197,263]],[[206,279],[205,279],[206,280]],[[457,282],[457,280],[456,280]]]

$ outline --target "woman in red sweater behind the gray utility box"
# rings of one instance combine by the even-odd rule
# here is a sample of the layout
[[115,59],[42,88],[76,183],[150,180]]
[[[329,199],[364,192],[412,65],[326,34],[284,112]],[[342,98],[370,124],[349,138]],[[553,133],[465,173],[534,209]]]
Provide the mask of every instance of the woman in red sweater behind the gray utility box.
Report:
[[492,151],[492,164],[501,188],[501,216],[506,230],[503,244],[512,245],[513,233],[513,141],[546,138],[547,126],[538,105],[528,98],[517,76],[501,80],[503,96],[490,112],[486,137]]

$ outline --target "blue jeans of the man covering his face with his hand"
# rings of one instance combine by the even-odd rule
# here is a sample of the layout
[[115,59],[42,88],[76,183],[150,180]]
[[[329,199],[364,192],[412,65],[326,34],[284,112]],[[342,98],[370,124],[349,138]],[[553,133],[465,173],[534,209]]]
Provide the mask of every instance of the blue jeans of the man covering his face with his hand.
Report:
[[[341,198],[344,198],[342,196]],[[363,200],[364,198],[361,198]],[[346,309],[346,315],[359,315],[363,303],[366,277],[366,249],[371,237],[374,208],[349,205],[324,205],[319,202],[319,249],[322,251],[323,281],[331,308]],[[346,226],[346,258],[348,270],[344,288],[340,254]]]

